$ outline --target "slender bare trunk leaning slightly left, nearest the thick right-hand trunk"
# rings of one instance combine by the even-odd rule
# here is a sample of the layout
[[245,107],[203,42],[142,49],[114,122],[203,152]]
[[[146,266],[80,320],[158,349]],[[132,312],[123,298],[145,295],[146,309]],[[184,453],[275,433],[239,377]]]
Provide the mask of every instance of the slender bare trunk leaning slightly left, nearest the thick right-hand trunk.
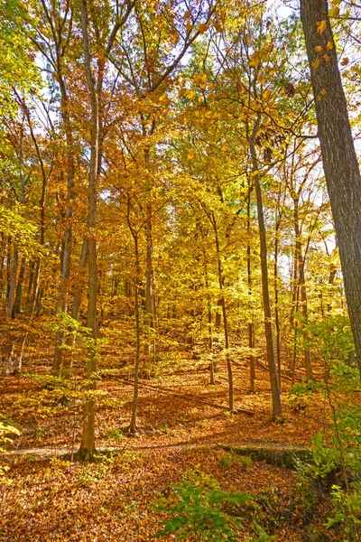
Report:
[[[271,298],[268,283],[268,266],[267,266],[267,237],[264,226],[264,204],[262,201],[262,189],[259,177],[259,164],[257,154],[255,150],[255,135],[258,131],[259,118],[254,127],[254,133],[248,135],[249,147],[251,151],[253,173],[255,181],[255,194],[257,200],[257,215],[258,215],[258,228],[260,234],[260,256],[261,256],[261,274],[262,274],[262,293],[264,301],[264,331],[267,350],[268,369],[271,380],[271,392],[272,392],[272,406],[273,406],[273,419],[281,416],[281,395],[280,386],[277,377],[276,360],[274,356],[274,344],[273,344],[273,330],[272,330],[272,311],[271,311]],[[248,130],[247,130],[248,131]]]

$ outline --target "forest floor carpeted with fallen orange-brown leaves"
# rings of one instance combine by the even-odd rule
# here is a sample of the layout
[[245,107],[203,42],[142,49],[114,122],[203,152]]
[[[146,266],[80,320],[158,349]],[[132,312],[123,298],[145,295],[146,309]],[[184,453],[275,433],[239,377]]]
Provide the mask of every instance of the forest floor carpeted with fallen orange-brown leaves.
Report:
[[[245,531],[251,533],[256,521],[280,542],[312,540],[307,538],[308,525],[322,530],[329,501],[325,498],[314,509],[305,509],[295,472],[245,460],[222,446],[307,447],[317,432],[327,433],[328,406],[317,394],[301,408],[292,406],[285,379],[282,423],[273,423],[267,373],[257,369],[255,393],[250,394],[249,369],[241,361],[234,368],[236,413],[230,414],[227,369],[219,365],[213,386],[204,362],[178,355],[157,365],[151,380],[141,380],[134,437],[125,431],[133,375],[122,367],[101,366],[99,455],[91,464],[71,461],[81,429],[79,379],[60,384],[51,378],[46,356],[29,361],[23,376],[4,378],[0,412],[21,435],[14,439],[15,453],[1,458],[10,467],[11,483],[3,484],[0,492],[0,539],[150,540],[162,519],[151,503],[159,492],[168,494],[170,483],[187,479],[186,471],[191,470],[213,476],[222,490],[255,498],[255,506],[241,511]],[[328,537],[337,540],[337,533],[329,531]]]

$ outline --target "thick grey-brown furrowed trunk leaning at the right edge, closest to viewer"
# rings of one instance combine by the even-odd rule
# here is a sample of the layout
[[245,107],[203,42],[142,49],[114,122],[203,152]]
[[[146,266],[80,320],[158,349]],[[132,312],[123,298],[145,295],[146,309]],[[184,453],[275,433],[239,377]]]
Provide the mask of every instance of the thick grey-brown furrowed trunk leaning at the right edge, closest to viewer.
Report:
[[[338,70],[327,0],[301,0],[301,22],[310,64],[310,78],[323,168],[345,282],[348,313],[361,378],[361,174],[348,119],[347,101]],[[323,33],[320,21],[326,22]],[[327,44],[332,45],[332,49]],[[322,52],[316,51],[322,47]],[[327,60],[323,54],[327,52]]]

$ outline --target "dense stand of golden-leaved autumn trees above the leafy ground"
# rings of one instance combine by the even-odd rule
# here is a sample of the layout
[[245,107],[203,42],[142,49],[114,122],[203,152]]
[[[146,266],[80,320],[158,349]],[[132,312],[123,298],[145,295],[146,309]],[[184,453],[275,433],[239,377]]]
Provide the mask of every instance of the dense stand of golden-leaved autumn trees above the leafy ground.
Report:
[[[329,23],[318,32],[306,4],[324,120],[342,98],[322,79],[336,70],[336,49]],[[282,379],[313,376],[312,322],[346,309],[298,19],[277,23],[267,5],[248,1],[2,9],[12,22],[0,28],[9,49],[0,65],[5,372],[21,369],[35,334],[51,325],[54,373],[84,375],[86,352],[74,351],[76,321],[86,324],[85,458],[95,451],[106,338],[134,368],[131,433],[139,378],[171,348],[207,360],[211,382],[214,361],[227,364],[231,411],[236,363],[247,360],[255,391],[255,362],[266,360],[279,416]],[[327,177],[349,149],[335,158],[325,145]],[[356,216],[355,179],[342,201]],[[345,247],[358,222],[335,193]],[[356,291],[352,265],[343,264],[346,292]]]

